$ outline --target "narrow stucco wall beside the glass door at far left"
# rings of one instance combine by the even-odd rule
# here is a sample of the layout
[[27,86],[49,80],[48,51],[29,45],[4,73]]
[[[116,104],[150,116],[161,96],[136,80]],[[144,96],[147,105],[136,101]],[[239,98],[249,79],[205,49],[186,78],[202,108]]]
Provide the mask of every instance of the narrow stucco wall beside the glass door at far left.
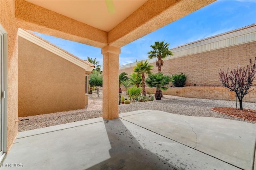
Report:
[[1,1],[0,24],[8,33],[7,151],[18,134],[18,27],[14,11],[14,1]]

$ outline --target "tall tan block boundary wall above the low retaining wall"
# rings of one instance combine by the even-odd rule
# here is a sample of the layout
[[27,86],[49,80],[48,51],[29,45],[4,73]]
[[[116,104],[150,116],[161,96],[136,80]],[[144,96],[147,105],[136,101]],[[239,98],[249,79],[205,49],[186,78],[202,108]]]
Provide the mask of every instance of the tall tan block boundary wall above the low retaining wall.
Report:
[[[239,66],[246,67],[249,59],[254,61],[256,57],[256,41],[246,44],[220,48],[212,51],[201,52],[188,56],[164,60],[162,71],[166,74],[184,73],[188,76],[186,85],[221,86],[219,72],[221,70],[236,69]],[[156,63],[151,63],[153,72],[158,72]],[[119,70],[131,74],[133,68]],[[254,80],[256,85],[256,80]]]

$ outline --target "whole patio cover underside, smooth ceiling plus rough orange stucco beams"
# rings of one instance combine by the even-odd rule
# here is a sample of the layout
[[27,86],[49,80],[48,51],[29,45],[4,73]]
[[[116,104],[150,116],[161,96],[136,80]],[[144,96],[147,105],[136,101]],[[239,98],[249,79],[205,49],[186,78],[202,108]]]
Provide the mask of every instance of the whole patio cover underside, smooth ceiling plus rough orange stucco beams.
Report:
[[17,0],[19,28],[104,48],[120,48],[215,0]]

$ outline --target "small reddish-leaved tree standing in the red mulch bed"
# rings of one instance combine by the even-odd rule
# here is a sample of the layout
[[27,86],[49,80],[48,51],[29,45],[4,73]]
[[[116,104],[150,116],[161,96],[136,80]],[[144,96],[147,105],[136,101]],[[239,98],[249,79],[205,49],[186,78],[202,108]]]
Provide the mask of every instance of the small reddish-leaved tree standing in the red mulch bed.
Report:
[[255,88],[249,90],[252,87],[252,82],[256,73],[256,57],[254,64],[252,65],[252,60],[250,59],[250,66],[247,65],[247,69],[238,67],[237,69],[230,71],[230,73],[220,70],[219,76],[220,81],[224,87],[229,88],[230,90],[236,93],[236,96],[239,100],[240,110],[243,110],[242,100],[246,94],[254,90]]

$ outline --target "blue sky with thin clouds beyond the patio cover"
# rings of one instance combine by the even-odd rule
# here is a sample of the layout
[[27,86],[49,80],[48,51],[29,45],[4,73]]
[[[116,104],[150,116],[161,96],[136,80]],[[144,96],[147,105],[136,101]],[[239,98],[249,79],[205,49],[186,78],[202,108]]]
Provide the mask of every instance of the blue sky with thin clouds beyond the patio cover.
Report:
[[[147,52],[155,41],[170,43],[174,48],[209,36],[256,23],[256,0],[218,0],[175,22],[172,22],[121,48],[120,65],[148,58]],[[86,60],[97,58],[102,65],[101,49],[36,33],[45,40]]]

